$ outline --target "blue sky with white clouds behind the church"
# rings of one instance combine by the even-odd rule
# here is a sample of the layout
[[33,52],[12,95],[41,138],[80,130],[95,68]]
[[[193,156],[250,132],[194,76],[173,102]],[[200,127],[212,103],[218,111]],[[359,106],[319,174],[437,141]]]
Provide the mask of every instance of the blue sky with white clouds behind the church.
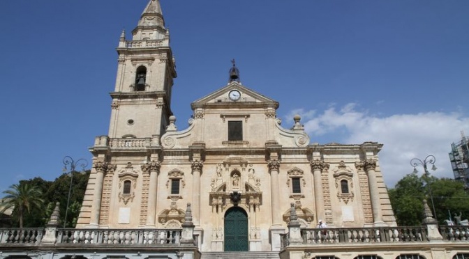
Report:
[[[62,158],[91,162],[107,134],[115,47],[147,0],[0,1],[0,191],[53,180]],[[176,57],[172,110],[225,86],[235,58],[244,86],[299,113],[311,143],[378,141],[388,187],[410,159],[447,153],[469,135],[469,1],[162,0]],[[422,170],[421,170],[422,171]]]

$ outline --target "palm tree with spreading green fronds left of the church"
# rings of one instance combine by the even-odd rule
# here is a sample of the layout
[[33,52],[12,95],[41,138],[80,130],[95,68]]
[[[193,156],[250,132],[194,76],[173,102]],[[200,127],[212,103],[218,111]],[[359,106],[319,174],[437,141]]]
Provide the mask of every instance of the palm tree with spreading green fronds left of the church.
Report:
[[8,209],[13,210],[13,214],[16,214],[18,221],[20,221],[20,228],[23,227],[24,214],[30,213],[35,208],[40,208],[44,203],[40,189],[27,183],[11,185],[10,189],[3,191],[3,194],[6,196],[3,197],[0,212],[3,213]]

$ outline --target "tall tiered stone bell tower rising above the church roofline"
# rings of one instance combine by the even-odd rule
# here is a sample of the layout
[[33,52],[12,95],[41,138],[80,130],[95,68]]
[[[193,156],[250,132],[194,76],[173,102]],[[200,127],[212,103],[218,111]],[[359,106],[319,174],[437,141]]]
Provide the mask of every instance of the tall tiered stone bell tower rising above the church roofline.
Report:
[[122,31],[116,86],[108,136],[148,138],[161,136],[172,115],[171,89],[177,77],[170,48],[170,32],[159,0],[150,0],[126,40]]

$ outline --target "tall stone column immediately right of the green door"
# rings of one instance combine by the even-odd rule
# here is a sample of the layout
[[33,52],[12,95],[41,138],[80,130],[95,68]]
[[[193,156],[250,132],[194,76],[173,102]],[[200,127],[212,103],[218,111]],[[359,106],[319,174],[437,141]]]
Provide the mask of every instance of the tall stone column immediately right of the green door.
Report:
[[272,226],[282,226],[282,212],[280,205],[280,197],[278,196],[278,168],[280,162],[278,160],[269,160],[270,173],[270,194],[271,194],[271,212]]

